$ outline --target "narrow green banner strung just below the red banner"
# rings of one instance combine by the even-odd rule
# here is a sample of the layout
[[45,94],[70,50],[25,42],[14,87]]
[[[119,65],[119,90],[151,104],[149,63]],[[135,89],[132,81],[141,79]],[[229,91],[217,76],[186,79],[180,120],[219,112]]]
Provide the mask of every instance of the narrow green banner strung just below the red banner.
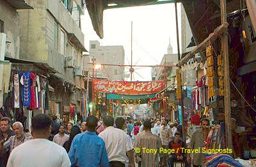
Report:
[[152,99],[155,98],[156,94],[150,94],[150,95],[118,95],[115,93],[111,93],[107,95],[107,99],[113,99],[113,100],[138,100],[138,99]]

